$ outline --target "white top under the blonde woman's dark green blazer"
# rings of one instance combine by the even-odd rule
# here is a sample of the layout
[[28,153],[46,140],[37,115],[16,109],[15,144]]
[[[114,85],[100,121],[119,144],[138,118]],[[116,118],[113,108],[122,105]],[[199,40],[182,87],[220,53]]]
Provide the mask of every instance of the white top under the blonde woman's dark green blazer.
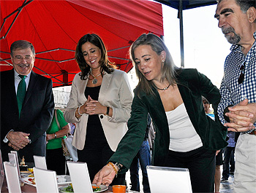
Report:
[[189,119],[184,103],[165,114],[169,125],[170,150],[187,152],[203,146],[200,136]]

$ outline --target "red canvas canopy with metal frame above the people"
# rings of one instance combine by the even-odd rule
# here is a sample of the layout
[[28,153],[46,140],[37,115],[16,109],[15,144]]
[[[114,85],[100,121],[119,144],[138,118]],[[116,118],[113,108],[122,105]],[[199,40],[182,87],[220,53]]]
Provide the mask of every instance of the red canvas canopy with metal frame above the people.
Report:
[[162,6],[146,0],[1,0],[0,70],[10,66],[10,45],[18,39],[34,44],[34,71],[53,87],[72,83],[80,71],[74,60],[81,36],[98,34],[108,55],[123,71],[132,63],[127,51],[143,33],[163,35]]

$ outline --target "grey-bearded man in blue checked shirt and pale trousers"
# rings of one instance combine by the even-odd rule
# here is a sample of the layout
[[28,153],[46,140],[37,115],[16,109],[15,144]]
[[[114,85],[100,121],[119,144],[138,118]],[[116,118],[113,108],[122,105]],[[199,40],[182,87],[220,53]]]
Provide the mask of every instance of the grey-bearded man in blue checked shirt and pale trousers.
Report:
[[241,132],[236,143],[233,192],[256,192],[256,5],[255,0],[219,0],[215,17],[233,44],[220,86],[219,119]]

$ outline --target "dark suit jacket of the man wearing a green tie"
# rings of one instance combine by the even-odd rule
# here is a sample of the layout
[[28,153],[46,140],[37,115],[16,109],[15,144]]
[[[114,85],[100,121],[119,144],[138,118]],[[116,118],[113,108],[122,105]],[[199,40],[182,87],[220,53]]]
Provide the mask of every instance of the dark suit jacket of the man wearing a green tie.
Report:
[[29,87],[23,101],[23,107],[18,113],[18,103],[15,93],[14,70],[2,71],[1,76],[1,153],[4,161],[13,150],[4,137],[10,130],[30,133],[31,143],[18,151],[24,156],[25,162],[34,162],[33,155],[45,156],[46,134],[53,117],[54,101],[52,81],[44,76],[31,72]]

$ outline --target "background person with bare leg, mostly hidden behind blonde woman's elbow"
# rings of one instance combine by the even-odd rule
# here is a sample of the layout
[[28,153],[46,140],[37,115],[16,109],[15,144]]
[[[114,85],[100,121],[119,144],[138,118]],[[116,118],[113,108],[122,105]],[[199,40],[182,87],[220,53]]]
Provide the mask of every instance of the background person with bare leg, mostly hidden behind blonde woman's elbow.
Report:
[[[207,101],[206,98],[202,97],[203,101],[203,108],[205,109],[206,115],[208,117],[211,117],[211,119],[215,119],[214,116],[214,110],[210,109],[210,103]],[[220,166],[223,164],[222,162],[222,153],[223,150],[217,150],[216,151],[216,167],[215,167],[215,176],[214,176],[214,191],[216,193],[219,192],[219,186],[220,186],[220,178],[221,178],[221,171],[220,171]]]

